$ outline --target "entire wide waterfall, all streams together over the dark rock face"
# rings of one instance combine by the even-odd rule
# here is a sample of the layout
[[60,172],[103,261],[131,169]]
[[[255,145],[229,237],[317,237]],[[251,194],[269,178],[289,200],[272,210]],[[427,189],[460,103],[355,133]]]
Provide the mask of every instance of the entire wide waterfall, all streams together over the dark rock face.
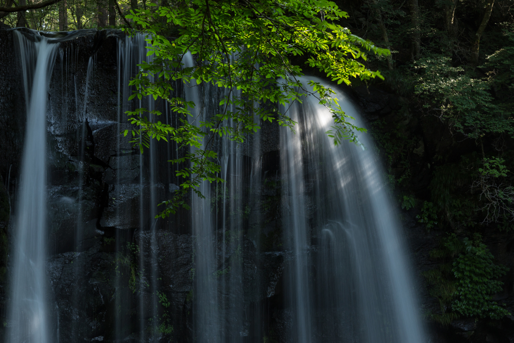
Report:
[[[144,36],[117,36],[112,93],[100,94],[98,84],[108,81],[99,79],[101,40],[83,57],[63,47],[80,32],[14,34],[27,128],[8,341],[262,342],[279,329],[281,341],[300,343],[426,340],[400,225],[366,134],[364,151],[351,142],[335,147],[325,134],[331,115],[307,97],[288,110],[296,133],[262,125],[244,145],[216,140],[227,183],[201,185],[206,199],[192,196],[191,212],[156,221],[157,204],[178,184],[177,167],[166,161],[185,151],[152,142],[141,155],[119,135],[130,128],[124,112],[137,107],[177,124],[151,98],[127,100],[136,64],[150,61]],[[86,73],[72,70],[79,57]],[[60,85],[50,83],[56,60],[62,79],[52,82]],[[185,63],[194,65],[190,55]],[[200,118],[216,113],[218,92],[177,85]],[[110,107],[95,107],[102,97]],[[363,127],[341,91],[338,98]],[[71,181],[53,173],[47,185],[48,159]],[[56,208],[72,213],[60,226]],[[63,227],[71,238],[56,249]],[[55,276],[65,269],[69,279]],[[94,296],[85,299],[84,290]]]

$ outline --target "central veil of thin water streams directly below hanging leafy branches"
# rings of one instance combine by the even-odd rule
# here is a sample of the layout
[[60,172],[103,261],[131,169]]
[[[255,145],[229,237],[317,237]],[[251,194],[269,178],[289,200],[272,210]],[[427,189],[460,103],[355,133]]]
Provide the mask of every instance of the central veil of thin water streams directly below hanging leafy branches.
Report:
[[[234,58],[234,56],[232,56]],[[194,66],[190,53],[183,57],[185,67]],[[217,89],[185,85],[185,97],[196,104],[190,122],[199,124],[224,106],[217,106]],[[224,96],[241,97],[240,91],[226,91]],[[236,112],[235,105],[229,111]],[[235,128],[232,120],[223,122]],[[216,137],[213,137],[216,138]],[[209,138],[205,138],[208,141]],[[204,145],[205,145],[204,141]],[[194,335],[198,342],[239,342],[248,336],[248,321],[244,319],[243,292],[243,149],[236,141],[224,136],[213,146],[218,148],[218,163],[225,183],[201,183],[199,190],[206,197],[192,194],[192,232],[195,243],[194,270]],[[206,146],[203,147],[204,149]],[[194,152],[191,149],[191,152]],[[260,173],[259,171],[256,171]]]

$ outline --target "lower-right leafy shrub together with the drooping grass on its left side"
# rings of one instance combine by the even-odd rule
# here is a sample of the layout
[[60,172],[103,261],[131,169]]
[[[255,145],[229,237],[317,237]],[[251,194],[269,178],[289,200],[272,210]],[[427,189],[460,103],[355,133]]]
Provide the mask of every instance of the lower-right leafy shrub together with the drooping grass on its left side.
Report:
[[439,261],[437,268],[423,273],[432,286],[430,295],[440,305],[439,313],[431,314],[433,320],[448,325],[459,315],[491,319],[509,315],[491,301],[492,294],[502,290],[503,282],[497,279],[507,268],[493,263],[494,257],[480,234],[475,233],[472,241],[448,234],[430,257]]

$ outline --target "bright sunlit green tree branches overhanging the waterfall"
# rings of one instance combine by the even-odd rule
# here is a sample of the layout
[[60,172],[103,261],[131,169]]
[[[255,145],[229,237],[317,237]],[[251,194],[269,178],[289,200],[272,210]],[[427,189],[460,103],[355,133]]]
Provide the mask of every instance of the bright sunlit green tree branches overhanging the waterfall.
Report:
[[[137,89],[131,98],[152,96],[167,101],[179,116],[181,126],[174,128],[154,120],[160,115],[158,111],[128,112],[130,121],[139,127],[132,131],[133,142],[140,149],[148,147],[150,138],[174,140],[180,147],[194,148],[194,152],[171,160],[191,167],[178,171],[183,182],[173,198],[161,204],[162,217],[178,207],[187,208],[183,197],[191,190],[203,197],[198,186],[204,180],[223,182],[217,176],[217,155],[208,149],[214,136],[242,142],[246,135],[259,129],[255,117],[276,120],[280,125],[294,124],[278,113],[275,106],[263,104],[287,106],[301,101],[305,93],[313,95],[333,114],[334,126],[328,134],[335,143],[342,139],[357,142],[355,132],[363,129],[347,121],[350,117],[341,110],[334,92],[314,82],[309,83],[313,89],[309,91],[307,85],[298,81],[301,68],[291,62],[291,57],[304,56],[309,67],[320,69],[338,83],[349,84],[350,78],[381,77],[378,71],[371,71],[362,63],[367,58],[364,51],[384,55],[388,50],[377,48],[338,25],[347,14],[334,3],[188,0],[177,1],[171,7],[149,6],[126,16],[148,33],[148,55],[154,57],[152,63],[140,64],[141,72],[131,81]],[[174,32],[177,38],[170,41],[166,32]],[[182,59],[188,51],[197,65],[185,68]],[[255,68],[256,65],[259,67]],[[279,78],[283,81],[277,83]],[[174,81],[196,83],[200,89],[204,83],[224,88],[219,112],[203,121],[188,120],[193,116],[194,104],[172,96]],[[236,89],[241,95],[234,92]],[[228,124],[229,119],[232,124]]]

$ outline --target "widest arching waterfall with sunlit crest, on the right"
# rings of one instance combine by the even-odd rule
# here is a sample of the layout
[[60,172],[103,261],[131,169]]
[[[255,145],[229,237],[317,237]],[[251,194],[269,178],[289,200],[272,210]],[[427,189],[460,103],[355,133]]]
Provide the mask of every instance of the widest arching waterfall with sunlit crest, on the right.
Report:
[[[300,78],[305,87],[309,80],[323,83]],[[296,134],[281,128],[280,137],[293,341],[425,341],[401,225],[369,134],[358,135],[365,150],[350,141],[335,146],[326,135],[331,113],[313,96],[282,110],[298,122]]]

